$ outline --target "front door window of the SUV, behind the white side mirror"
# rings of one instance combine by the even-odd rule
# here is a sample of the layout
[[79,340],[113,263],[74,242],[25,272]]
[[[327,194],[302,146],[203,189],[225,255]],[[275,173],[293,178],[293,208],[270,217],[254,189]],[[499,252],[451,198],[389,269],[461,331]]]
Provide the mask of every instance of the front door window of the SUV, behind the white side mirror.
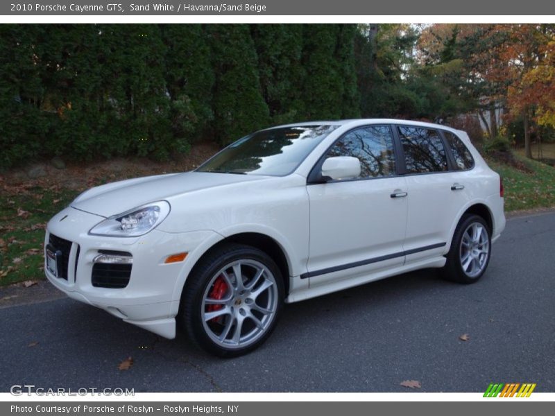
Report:
[[361,178],[395,175],[393,136],[386,125],[357,128],[341,137],[326,157],[352,156],[360,160]]

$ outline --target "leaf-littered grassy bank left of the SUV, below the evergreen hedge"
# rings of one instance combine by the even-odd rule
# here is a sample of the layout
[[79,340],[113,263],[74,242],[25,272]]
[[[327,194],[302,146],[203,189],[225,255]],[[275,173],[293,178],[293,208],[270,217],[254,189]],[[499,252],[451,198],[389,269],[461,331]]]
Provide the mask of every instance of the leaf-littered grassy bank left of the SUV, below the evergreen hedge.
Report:
[[29,179],[30,166],[0,173],[0,286],[45,279],[46,222],[85,189],[130,177],[190,171],[217,150],[215,144],[197,144],[191,153],[167,163],[112,159],[68,164],[62,171],[42,164],[46,175],[37,179]]

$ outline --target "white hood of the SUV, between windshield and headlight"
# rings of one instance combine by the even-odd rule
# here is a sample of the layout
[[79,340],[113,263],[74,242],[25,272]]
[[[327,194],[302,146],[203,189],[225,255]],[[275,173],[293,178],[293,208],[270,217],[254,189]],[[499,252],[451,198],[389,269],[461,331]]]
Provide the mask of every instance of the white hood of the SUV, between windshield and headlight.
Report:
[[71,202],[71,207],[108,218],[183,193],[264,178],[267,176],[205,172],[137,177],[89,189]]

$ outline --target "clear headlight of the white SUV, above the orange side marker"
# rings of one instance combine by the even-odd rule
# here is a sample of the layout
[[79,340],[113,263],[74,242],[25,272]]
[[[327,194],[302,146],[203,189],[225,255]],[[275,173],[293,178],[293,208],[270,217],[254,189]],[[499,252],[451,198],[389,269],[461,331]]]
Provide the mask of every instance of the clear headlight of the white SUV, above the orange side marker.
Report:
[[123,214],[106,218],[92,227],[89,234],[111,237],[142,236],[162,223],[168,216],[169,210],[169,203],[166,201],[151,202]]

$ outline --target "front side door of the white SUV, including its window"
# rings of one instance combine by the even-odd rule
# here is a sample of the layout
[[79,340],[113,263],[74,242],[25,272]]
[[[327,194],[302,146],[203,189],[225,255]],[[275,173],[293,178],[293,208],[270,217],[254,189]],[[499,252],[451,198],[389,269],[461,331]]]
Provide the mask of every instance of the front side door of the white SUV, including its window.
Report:
[[[407,184],[398,175],[390,125],[351,130],[322,158],[357,157],[355,180],[308,184],[311,287],[401,266],[407,224]],[[315,169],[318,168],[318,164]]]

